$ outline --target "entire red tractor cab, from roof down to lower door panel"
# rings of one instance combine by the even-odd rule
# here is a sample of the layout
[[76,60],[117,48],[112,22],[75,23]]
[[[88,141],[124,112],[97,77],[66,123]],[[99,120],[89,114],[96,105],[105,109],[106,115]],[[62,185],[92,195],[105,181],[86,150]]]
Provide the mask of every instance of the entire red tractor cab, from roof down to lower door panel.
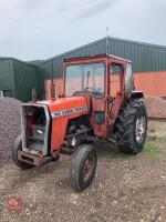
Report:
[[114,129],[125,98],[133,93],[143,97],[134,91],[131,61],[110,54],[64,60],[63,83],[64,97],[86,95],[94,133],[100,138]]

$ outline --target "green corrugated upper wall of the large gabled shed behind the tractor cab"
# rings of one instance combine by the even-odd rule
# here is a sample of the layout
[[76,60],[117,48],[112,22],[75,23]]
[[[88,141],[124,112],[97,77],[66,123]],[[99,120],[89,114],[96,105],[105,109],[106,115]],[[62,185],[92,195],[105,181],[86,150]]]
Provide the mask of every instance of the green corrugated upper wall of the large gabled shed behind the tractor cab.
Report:
[[[133,72],[166,70],[166,47],[108,38],[108,53],[133,62]],[[76,58],[106,53],[106,39],[85,44],[75,50],[51,58],[38,64],[40,93],[44,94],[44,79],[50,78],[50,63],[53,62],[54,78],[62,77],[64,58]]]

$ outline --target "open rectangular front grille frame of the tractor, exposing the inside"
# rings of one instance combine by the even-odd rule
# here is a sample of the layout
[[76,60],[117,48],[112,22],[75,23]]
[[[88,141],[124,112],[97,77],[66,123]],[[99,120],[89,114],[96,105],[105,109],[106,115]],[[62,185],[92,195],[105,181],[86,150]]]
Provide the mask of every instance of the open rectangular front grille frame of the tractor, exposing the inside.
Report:
[[23,151],[48,155],[50,115],[46,105],[22,105]]

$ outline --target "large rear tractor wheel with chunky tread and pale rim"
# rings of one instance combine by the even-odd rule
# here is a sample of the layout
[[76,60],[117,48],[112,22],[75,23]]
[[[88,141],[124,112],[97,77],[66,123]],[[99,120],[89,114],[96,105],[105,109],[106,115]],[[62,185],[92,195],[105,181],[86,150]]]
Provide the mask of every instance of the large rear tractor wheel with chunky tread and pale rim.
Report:
[[144,147],[147,115],[143,100],[125,101],[115,124],[116,141],[124,153],[136,154]]

